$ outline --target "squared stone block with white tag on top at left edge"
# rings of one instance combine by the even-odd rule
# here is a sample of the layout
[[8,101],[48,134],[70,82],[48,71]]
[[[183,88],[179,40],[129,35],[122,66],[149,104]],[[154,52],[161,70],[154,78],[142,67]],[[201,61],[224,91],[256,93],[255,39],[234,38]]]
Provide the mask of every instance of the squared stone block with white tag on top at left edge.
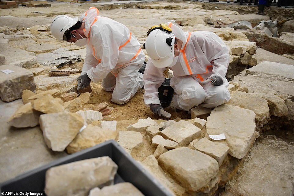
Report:
[[[2,72],[7,69],[13,73]],[[0,98],[2,101],[11,102],[19,99],[23,90],[35,91],[36,88],[32,72],[15,65],[0,66]]]

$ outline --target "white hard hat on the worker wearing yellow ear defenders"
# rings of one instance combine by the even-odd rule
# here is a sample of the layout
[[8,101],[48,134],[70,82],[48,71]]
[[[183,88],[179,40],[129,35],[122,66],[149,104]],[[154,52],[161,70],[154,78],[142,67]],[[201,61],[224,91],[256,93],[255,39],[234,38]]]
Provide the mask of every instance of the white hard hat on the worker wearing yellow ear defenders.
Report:
[[155,67],[164,68],[174,60],[175,35],[160,29],[150,32],[145,48]]

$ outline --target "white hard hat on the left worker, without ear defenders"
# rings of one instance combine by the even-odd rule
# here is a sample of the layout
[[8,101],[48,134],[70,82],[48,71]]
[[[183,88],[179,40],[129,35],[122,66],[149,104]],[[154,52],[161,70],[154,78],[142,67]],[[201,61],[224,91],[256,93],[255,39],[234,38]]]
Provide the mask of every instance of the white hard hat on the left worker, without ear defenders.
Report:
[[58,40],[67,40],[65,31],[74,26],[79,20],[79,17],[71,18],[66,15],[59,15],[51,22],[51,34]]

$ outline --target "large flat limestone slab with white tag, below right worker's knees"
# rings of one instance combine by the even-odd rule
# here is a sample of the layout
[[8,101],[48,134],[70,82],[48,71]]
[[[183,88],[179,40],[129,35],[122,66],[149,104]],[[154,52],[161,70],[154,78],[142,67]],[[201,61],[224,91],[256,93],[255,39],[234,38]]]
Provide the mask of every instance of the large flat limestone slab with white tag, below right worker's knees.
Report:
[[223,142],[230,147],[229,154],[241,159],[254,142],[255,113],[238,106],[220,105],[207,118],[206,130],[208,135],[225,134]]

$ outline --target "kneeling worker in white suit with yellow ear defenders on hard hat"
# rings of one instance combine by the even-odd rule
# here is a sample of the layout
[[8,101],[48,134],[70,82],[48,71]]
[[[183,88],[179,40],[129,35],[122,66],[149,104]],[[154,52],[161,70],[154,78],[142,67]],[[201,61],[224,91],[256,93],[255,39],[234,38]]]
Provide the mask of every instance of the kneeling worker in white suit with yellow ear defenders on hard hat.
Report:
[[167,23],[153,26],[147,33],[145,48],[150,56],[143,76],[144,101],[159,116],[158,90],[163,72],[173,71],[170,85],[175,91],[176,109],[189,111],[194,106],[214,108],[230,100],[226,80],[229,50],[213,32],[184,32]]

